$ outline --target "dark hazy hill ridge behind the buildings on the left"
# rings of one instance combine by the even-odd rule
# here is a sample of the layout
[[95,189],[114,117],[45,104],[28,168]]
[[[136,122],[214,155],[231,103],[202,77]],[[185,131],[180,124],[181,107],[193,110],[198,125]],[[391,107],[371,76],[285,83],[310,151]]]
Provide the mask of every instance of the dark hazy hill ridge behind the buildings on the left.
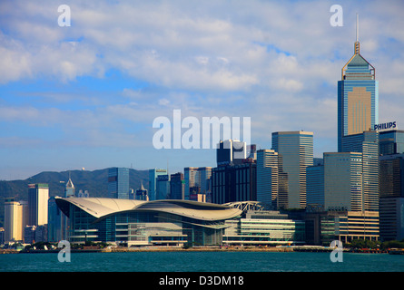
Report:
[[[5,198],[15,198],[16,201],[28,200],[28,184],[49,184],[49,196],[64,197],[66,182],[69,174],[74,184],[75,192],[80,189],[88,190],[91,198],[106,198],[108,196],[108,169],[70,170],[62,172],[44,171],[25,180],[0,180],[0,227],[4,227]],[[149,187],[148,170],[129,169],[129,188],[139,189],[141,182],[143,187]]]

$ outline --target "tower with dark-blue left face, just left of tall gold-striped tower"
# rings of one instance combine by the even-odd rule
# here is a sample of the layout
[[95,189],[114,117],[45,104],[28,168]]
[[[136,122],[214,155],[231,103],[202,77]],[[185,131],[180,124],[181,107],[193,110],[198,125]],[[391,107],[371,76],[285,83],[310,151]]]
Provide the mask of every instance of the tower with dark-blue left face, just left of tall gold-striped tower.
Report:
[[278,208],[278,152],[257,151],[257,201]]

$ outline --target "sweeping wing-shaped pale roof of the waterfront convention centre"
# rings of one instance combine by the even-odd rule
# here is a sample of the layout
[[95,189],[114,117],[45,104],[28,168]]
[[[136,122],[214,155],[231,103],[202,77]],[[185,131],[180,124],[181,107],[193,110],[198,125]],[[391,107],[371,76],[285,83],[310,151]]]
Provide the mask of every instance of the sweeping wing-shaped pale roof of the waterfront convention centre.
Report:
[[180,199],[143,201],[117,198],[56,198],[56,204],[59,208],[63,208],[66,203],[83,209],[94,218],[103,218],[128,210],[153,210],[187,218],[214,221],[234,218],[242,213],[238,208]]

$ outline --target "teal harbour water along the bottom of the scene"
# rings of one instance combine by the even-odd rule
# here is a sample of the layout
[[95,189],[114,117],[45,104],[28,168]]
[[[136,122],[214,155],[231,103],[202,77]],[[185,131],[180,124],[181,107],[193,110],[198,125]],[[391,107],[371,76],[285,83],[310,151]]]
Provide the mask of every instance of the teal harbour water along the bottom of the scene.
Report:
[[0,272],[403,272],[404,255],[271,252],[126,252],[0,255]]

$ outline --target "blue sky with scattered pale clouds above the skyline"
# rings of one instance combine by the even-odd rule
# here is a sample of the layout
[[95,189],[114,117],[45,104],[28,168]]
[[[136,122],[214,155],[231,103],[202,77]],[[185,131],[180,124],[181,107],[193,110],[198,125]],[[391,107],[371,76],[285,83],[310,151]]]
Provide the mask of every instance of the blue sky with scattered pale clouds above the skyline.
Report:
[[[335,4],[342,26],[330,24]],[[402,1],[1,1],[0,179],[214,167],[214,146],[155,148],[153,121],[173,123],[174,110],[201,125],[251,118],[258,149],[271,149],[274,131],[303,130],[315,157],[337,151],[337,82],[356,14],[379,123],[404,128],[403,13]]]

